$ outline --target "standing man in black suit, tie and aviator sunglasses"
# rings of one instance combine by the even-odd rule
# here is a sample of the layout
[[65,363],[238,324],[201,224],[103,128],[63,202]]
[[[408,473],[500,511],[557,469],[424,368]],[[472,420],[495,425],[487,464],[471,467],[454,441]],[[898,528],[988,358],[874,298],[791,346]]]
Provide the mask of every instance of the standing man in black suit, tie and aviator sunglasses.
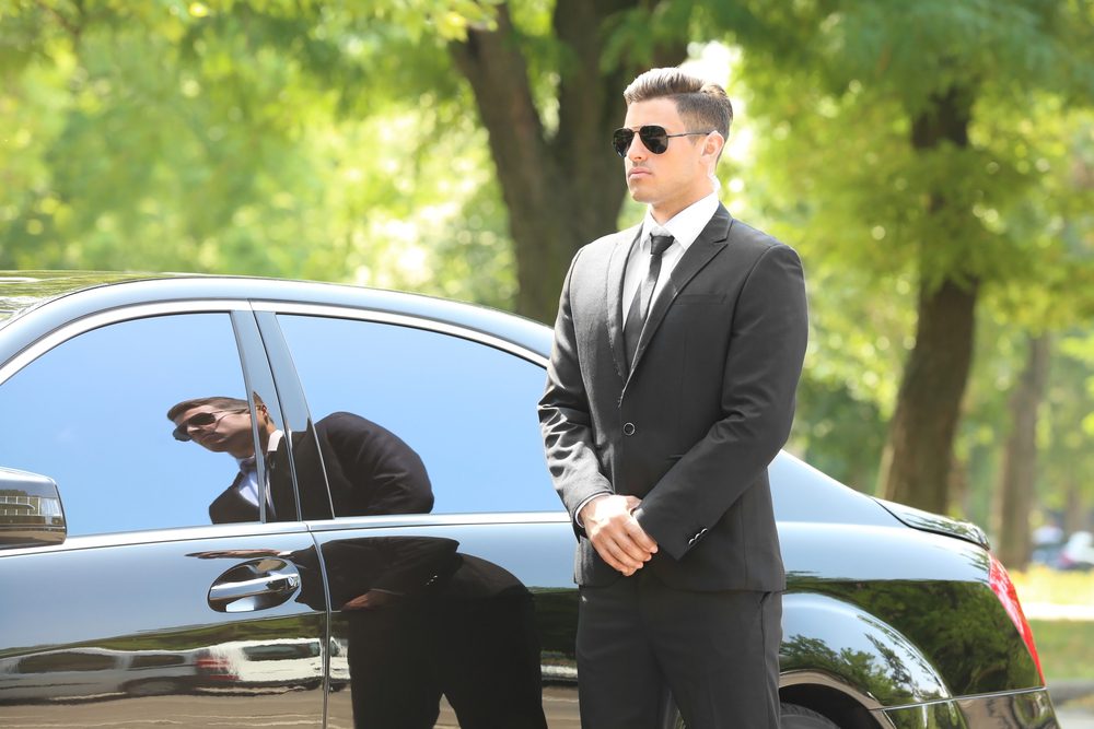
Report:
[[[613,138],[640,225],[584,246],[539,403],[578,536],[584,729],[776,729],[785,576],[767,467],[807,333],[798,255],[733,220],[725,92],[654,69]],[[666,691],[667,690],[667,691]]]

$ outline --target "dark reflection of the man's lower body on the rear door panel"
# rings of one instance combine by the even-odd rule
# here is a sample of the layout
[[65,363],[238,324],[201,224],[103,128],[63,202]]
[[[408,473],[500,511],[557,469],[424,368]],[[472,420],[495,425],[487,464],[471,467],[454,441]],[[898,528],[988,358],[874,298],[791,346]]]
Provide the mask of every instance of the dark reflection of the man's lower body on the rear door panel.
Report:
[[532,596],[457,546],[323,544],[330,604],[346,620],[354,726],[430,729],[444,695],[464,729],[546,729]]

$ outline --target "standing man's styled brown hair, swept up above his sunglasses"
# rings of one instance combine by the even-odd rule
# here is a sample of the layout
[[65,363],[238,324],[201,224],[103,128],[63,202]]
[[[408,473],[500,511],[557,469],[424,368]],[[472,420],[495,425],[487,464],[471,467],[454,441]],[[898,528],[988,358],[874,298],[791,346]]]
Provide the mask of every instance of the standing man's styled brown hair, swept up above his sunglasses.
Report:
[[630,82],[622,97],[627,106],[651,98],[671,98],[689,131],[713,129],[722,139],[729,139],[733,105],[725,90],[678,68],[650,69]]

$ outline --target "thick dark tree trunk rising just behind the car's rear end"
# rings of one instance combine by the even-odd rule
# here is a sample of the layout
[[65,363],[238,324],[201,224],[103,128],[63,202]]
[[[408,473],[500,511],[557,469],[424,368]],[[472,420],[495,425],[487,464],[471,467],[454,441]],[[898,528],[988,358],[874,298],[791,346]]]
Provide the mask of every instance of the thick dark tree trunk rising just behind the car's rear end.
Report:
[[[932,102],[912,121],[912,148],[968,146],[971,97],[952,87]],[[948,204],[934,191],[927,213],[944,220]],[[927,246],[947,243],[922,242],[924,261]],[[942,514],[950,507],[954,433],[973,362],[978,283],[975,275],[955,271],[935,285],[926,263],[920,272],[916,344],[905,365],[881,468],[882,493],[891,501]]]

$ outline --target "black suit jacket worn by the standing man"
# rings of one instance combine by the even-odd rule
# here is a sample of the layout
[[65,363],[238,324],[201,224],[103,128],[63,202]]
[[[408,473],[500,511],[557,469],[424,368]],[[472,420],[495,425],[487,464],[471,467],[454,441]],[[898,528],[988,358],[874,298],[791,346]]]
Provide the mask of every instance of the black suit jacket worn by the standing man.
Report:
[[[641,226],[574,256],[539,403],[575,518],[633,494],[659,551],[643,569],[695,590],[785,588],[767,467],[785,443],[808,330],[801,261],[722,205],[650,307],[632,367],[621,290]],[[619,577],[574,520],[579,585]]]

